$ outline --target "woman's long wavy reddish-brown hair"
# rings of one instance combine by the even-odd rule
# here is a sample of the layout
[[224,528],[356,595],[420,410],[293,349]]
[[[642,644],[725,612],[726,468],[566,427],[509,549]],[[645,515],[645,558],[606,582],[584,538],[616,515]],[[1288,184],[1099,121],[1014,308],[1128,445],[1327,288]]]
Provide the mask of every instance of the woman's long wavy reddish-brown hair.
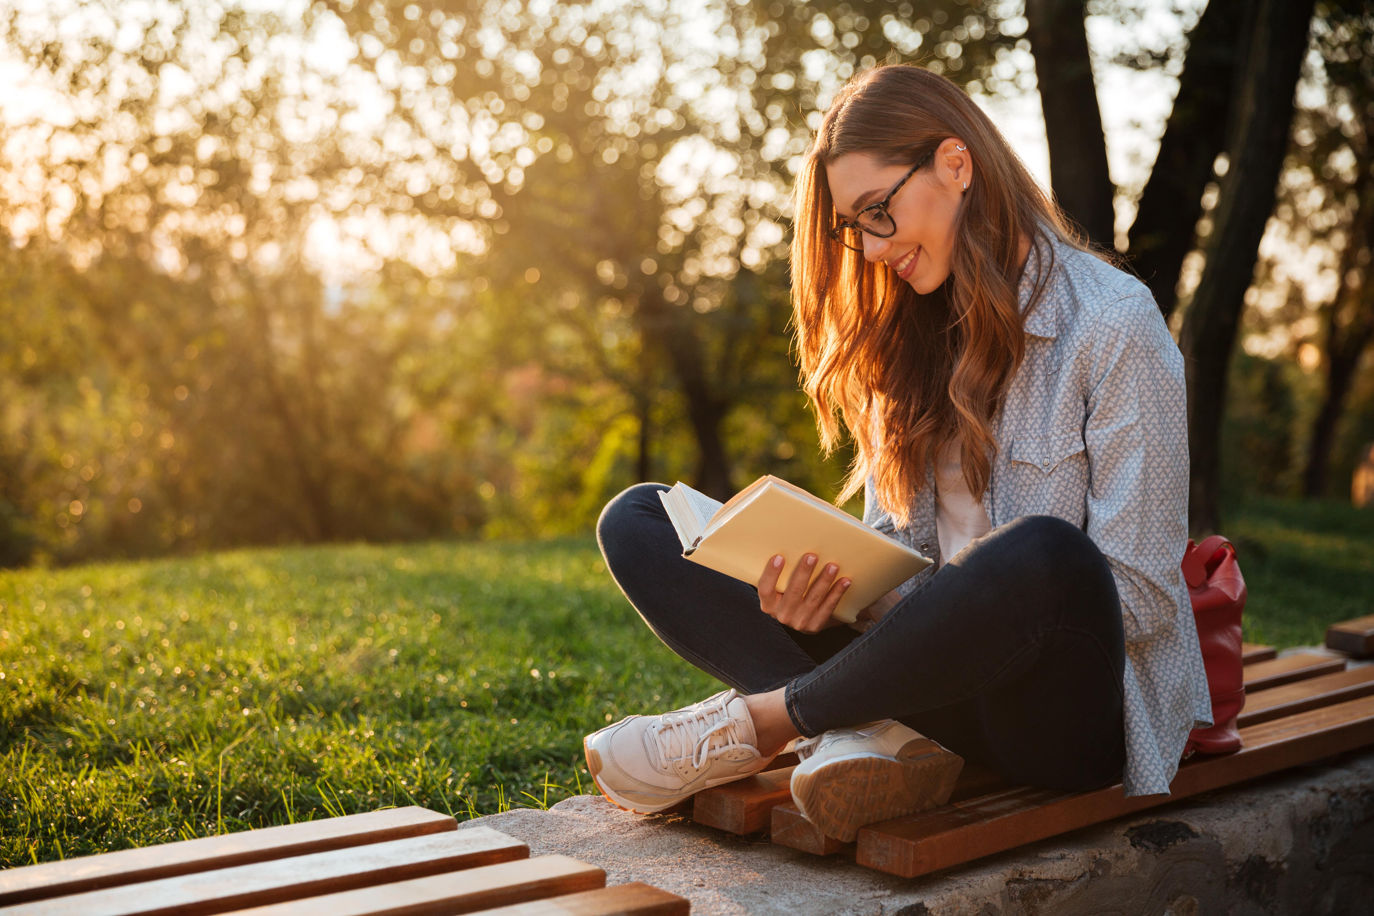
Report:
[[[949,279],[921,295],[829,236],[838,217],[826,163],[851,152],[914,163],[948,137],[969,147],[977,180],[955,217]],[[870,496],[904,525],[926,468],[952,441],[970,492],[981,496],[998,448],[991,422],[1025,350],[1021,240],[1047,253],[1037,243],[1046,233],[1081,247],[1076,233],[963,89],[911,65],[867,70],[835,96],[793,195],[802,387],[826,452],[841,442],[841,417],[856,445],[837,501],[872,475]],[[1043,254],[1033,260],[1043,284],[1048,264]]]

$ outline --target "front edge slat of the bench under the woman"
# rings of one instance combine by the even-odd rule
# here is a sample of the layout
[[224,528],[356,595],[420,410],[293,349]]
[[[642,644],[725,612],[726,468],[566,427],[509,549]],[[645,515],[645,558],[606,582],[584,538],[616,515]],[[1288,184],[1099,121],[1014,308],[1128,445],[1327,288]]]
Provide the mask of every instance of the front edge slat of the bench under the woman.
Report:
[[1241,731],[1235,754],[1179,768],[1168,797],[1125,798],[1120,784],[1092,792],[1010,788],[967,802],[871,824],[859,831],[857,861],[915,878],[1022,843],[1099,824],[1289,766],[1374,743],[1374,696],[1363,696]]

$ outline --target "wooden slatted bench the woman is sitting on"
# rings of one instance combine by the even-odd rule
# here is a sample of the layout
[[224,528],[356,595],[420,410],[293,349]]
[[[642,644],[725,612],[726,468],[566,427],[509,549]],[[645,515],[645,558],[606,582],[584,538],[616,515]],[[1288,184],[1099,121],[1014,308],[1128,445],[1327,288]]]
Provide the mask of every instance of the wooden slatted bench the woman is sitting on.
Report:
[[[1242,658],[1248,696],[1238,724],[1243,748],[1186,761],[1168,797],[1125,798],[1120,784],[1094,792],[1036,790],[969,766],[947,805],[871,824],[856,843],[840,843],[793,806],[779,770],[747,786],[742,780],[699,792],[695,810],[701,814],[694,818],[738,834],[767,829],[775,843],[820,856],[851,853],[861,865],[915,878],[1374,744],[1374,667],[1345,670],[1342,658],[1314,652],[1281,659],[1271,647],[1253,644],[1242,648]],[[730,791],[731,786],[739,788]]]

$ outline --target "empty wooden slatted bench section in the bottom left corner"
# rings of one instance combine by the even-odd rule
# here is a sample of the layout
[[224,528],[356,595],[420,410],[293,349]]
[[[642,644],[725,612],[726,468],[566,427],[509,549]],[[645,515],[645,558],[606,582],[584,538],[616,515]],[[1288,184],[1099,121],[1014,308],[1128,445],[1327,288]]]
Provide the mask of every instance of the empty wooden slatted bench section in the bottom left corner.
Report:
[[0,871],[0,916],[683,916],[687,900],[400,808]]

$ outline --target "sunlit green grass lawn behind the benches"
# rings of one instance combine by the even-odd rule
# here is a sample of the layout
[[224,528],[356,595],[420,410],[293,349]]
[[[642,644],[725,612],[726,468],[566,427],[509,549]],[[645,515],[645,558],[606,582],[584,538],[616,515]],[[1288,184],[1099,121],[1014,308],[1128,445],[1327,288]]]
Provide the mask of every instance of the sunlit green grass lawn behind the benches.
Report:
[[[1234,515],[1246,639],[1374,612],[1374,514]],[[594,791],[581,735],[714,681],[589,540],[216,553],[0,573],[0,867],[423,805]]]

